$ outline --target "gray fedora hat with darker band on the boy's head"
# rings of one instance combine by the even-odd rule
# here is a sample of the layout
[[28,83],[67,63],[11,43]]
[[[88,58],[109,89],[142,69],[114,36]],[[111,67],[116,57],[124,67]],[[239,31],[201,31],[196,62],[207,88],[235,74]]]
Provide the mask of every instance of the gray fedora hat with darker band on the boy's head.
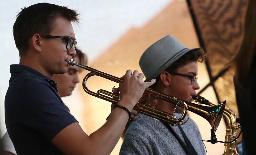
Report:
[[156,78],[190,50],[170,34],[156,41],[140,57],[140,68],[147,78],[145,81]]

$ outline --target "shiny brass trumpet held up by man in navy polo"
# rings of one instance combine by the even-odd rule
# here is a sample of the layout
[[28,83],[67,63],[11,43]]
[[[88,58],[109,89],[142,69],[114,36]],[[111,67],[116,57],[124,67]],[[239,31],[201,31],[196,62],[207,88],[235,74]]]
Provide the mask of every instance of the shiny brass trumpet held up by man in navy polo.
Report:
[[[123,82],[124,81],[123,79],[117,78],[110,74],[93,69],[89,66],[84,66],[83,64],[76,63],[73,59],[69,60],[68,64],[71,66],[78,66],[85,70],[91,71],[91,73],[87,74],[83,79],[82,85],[83,85],[83,89],[86,93],[88,93],[92,96],[98,97],[100,99],[112,102],[112,103],[118,102],[119,95],[116,95],[113,92],[108,92],[108,91],[102,90],[102,89],[98,90],[97,92],[92,92],[86,87],[86,82],[92,76],[100,76],[102,78],[106,78],[106,79],[111,80],[116,83]],[[174,105],[176,105],[176,107],[177,106],[182,107],[183,112],[182,112],[180,118],[177,118],[174,115],[175,111],[173,114],[170,114],[168,112],[165,112],[160,109],[156,109],[155,107],[151,107],[151,106],[148,106],[148,105],[140,103],[140,102],[136,103],[136,105],[134,106],[133,109],[138,111],[141,114],[145,114],[147,116],[156,118],[160,121],[167,122],[167,123],[171,124],[172,126],[185,124],[187,121],[184,121],[184,118],[187,114],[187,111],[189,110],[195,114],[202,116],[204,119],[206,119],[210,123],[212,129],[214,131],[216,131],[218,128],[218,125],[220,123],[220,120],[221,120],[221,117],[223,114],[223,110],[224,110],[225,104],[226,104],[226,100],[224,100],[221,104],[219,104],[217,106],[208,107],[208,106],[202,106],[202,105],[198,105],[198,104],[191,103],[188,101],[184,101],[184,100],[163,94],[161,92],[157,92],[150,88],[147,88],[145,90],[145,93],[146,92],[150,92],[151,96],[154,96],[158,99],[161,99],[161,100],[167,101],[171,104],[174,104]]]

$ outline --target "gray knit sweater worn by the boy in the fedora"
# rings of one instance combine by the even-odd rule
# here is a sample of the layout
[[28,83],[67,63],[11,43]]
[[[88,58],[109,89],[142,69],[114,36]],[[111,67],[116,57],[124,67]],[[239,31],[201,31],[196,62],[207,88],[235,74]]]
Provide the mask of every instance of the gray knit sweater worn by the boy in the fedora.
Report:
[[[180,115],[176,114],[177,117]],[[187,120],[187,116],[186,119]],[[198,155],[204,155],[205,148],[202,143],[202,137],[196,123],[189,118],[188,122],[181,125],[181,128],[186,133],[189,141],[195,148]],[[177,133],[181,140],[185,143],[184,138],[177,126],[172,126],[172,129]],[[178,140],[160,121],[148,117],[143,114],[138,115],[138,119],[130,125],[124,136],[121,155],[134,154],[186,154]]]

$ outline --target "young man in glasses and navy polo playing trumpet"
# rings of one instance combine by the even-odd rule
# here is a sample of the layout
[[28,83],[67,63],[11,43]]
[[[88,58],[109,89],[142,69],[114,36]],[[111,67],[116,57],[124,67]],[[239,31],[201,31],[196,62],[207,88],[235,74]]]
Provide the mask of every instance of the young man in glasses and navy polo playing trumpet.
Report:
[[76,55],[71,22],[78,23],[76,11],[48,3],[25,7],[17,15],[13,36],[20,64],[10,66],[5,96],[5,124],[17,154],[110,154],[131,119],[132,108],[155,83],[143,82],[143,74],[127,70],[119,84],[118,106],[88,136],[68,112],[52,80],[53,74],[67,72],[68,61]]

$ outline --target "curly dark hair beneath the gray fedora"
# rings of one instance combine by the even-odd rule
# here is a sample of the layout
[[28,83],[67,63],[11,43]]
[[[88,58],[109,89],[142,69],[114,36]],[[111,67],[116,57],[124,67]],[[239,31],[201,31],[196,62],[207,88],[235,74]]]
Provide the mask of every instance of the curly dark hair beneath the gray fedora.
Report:
[[[170,65],[166,70],[168,73],[176,72],[179,67],[185,66],[186,64],[198,61],[203,63],[206,60],[207,54],[204,53],[202,48],[195,48],[188,51],[186,54],[182,55],[178,60],[176,60],[172,65]],[[156,83],[151,85],[151,89],[156,89],[156,85],[160,81],[160,75],[156,77]]]

